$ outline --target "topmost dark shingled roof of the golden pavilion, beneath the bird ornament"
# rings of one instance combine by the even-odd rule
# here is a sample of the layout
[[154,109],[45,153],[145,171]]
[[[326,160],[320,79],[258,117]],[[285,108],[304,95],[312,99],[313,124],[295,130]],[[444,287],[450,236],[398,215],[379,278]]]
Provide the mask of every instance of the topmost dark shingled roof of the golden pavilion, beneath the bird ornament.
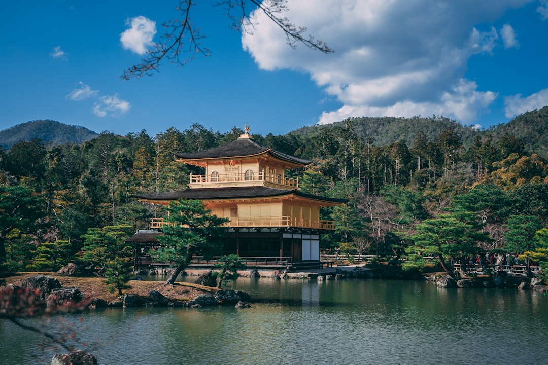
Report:
[[229,157],[247,157],[270,152],[273,156],[290,161],[292,163],[308,165],[312,161],[301,159],[283,152],[271,149],[270,147],[262,146],[255,142],[252,138],[238,138],[236,141],[224,144],[223,146],[204,149],[203,151],[191,153],[176,153],[175,156],[184,160],[201,160],[214,158],[229,158]]

